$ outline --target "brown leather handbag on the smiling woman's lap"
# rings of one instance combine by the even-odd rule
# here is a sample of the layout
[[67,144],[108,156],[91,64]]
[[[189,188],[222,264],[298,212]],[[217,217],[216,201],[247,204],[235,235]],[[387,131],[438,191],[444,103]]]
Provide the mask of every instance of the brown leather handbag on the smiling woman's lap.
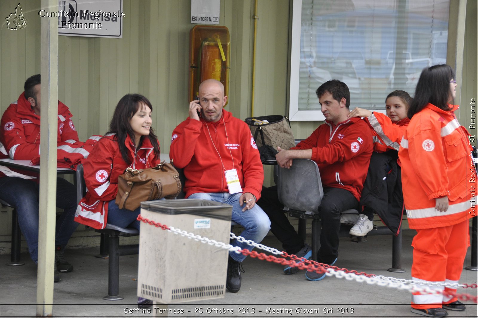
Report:
[[115,203],[120,209],[136,210],[143,201],[173,199],[181,192],[179,174],[170,163],[148,169],[131,169],[118,177]]

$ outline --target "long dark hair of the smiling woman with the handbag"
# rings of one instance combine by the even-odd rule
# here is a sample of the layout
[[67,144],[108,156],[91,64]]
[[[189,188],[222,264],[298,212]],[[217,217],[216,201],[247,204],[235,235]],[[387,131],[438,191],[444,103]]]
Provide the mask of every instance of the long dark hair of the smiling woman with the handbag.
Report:
[[[109,131],[106,134],[116,134],[118,140],[118,146],[120,147],[121,157],[123,157],[126,163],[131,164],[131,160],[128,157],[128,149],[124,144],[126,136],[130,136],[134,141],[134,132],[130,125],[130,120],[134,114],[138,111],[140,103],[143,102],[152,110],[151,102],[146,97],[140,94],[126,94],[121,97],[118,105],[116,105],[113,118],[109,123]],[[154,129],[150,127],[150,134],[148,136],[141,136],[140,145],[143,143],[144,138],[148,138],[151,141],[156,158],[159,159],[160,148],[158,138],[154,135]]]

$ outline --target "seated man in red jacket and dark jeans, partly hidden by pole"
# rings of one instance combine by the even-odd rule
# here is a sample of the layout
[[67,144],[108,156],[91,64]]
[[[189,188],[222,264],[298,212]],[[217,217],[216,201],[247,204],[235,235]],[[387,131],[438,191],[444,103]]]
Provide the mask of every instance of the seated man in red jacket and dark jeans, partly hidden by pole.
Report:
[[[25,91],[10,104],[0,123],[0,158],[32,160],[40,154],[40,74],[25,81]],[[72,114],[58,101],[58,143],[78,142]],[[10,170],[0,166],[0,199],[17,210],[18,223],[28,244],[30,257],[38,263],[38,174]],[[58,272],[71,272],[63,251],[78,223],[76,188],[63,178],[56,180],[56,206],[64,212],[56,222],[54,282],[61,280]]]

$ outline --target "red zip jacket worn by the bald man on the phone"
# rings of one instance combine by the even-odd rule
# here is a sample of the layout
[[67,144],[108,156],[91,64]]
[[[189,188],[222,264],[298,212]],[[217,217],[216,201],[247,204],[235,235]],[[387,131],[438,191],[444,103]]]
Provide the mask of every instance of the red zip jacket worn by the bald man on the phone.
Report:
[[242,192],[259,200],[264,169],[249,126],[224,109],[222,116],[217,123],[188,117],[173,131],[169,156],[175,167],[184,168],[186,198],[199,192],[228,192],[224,168],[235,168]]

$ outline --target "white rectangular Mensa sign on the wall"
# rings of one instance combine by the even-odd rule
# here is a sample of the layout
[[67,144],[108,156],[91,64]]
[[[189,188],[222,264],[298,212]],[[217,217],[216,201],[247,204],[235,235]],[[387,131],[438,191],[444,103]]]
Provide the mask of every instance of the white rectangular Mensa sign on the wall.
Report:
[[123,0],[59,0],[58,11],[41,10],[38,15],[57,18],[58,35],[122,38],[126,13]]

